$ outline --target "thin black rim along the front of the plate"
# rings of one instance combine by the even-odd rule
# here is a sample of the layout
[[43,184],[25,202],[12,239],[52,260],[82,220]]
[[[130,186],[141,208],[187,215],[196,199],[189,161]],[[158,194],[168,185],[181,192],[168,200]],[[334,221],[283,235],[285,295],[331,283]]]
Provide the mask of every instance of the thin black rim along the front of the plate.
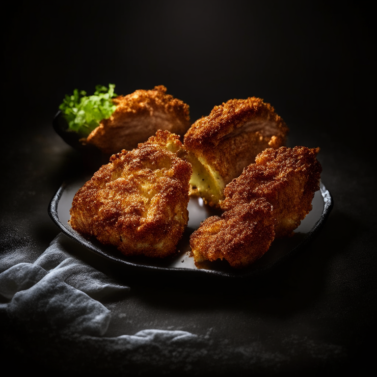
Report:
[[[91,252],[94,252],[97,255],[100,255],[108,260],[111,260],[115,263],[118,263],[120,265],[126,265],[128,267],[132,267],[138,270],[152,270],[152,271],[165,271],[167,273],[177,273],[182,272],[185,274],[200,274],[200,275],[215,275],[215,276],[221,276],[221,277],[232,277],[232,278],[250,278],[250,277],[256,277],[264,275],[267,271],[270,269],[273,269],[277,266],[279,266],[282,263],[285,263],[288,259],[290,259],[293,255],[295,255],[299,250],[303,249],[306,245],[308,245],[310,242],[312,242],[317,235],[319,234],[320,230],[323,228],[328,216],[330,215],[330,212],[334,206],[334,199],[330,193],[330,191],[323,185],[322,180],[320,180],[320,192],[323,198],[323,211],[320,216],[320,218],[317,220],[315,225],[312,227],[312,229],[306,233],[306,236],[304,239],[299,242],[295,247],[290,249],[287,253],[279,257],[276,261],[273,261],[269,263],[267,266],[264,266],[259,269],[252,269],[247,270],[244,273],[242,273],[242,269],[236,269],[234,273],[232,272],[225,272],[225,271],[219,271],[219,270],[213,270],[213,269],[186,269],[186,268],[179,268],[179,267],[160,267],[160,266],[149,266],[149,265],[143,265],[143,264],[136,264],[133,262],[125,261],[122,259],[115,258],[111,255],[108,255],[106,252],[101,250],[99,247],[94,245],[89,240],[86,240],[84,237],[82,237],[78,232],[73,230],[70,227],[66,227],[59,218],[59,215],[57,213],[57,207],[59,204],[59,200],[64,192],[64,190],[68,187],[68,183],[64,181],[61,186],[57,189],[54,196],[52,197],[49,206],[48,206],[48,214],[53,220],[54,224],[60,229],[60,231],[65,234],[70,239],[78,242],[85,248],[89,249]],[[238,272],[236,272],[238,271]]]

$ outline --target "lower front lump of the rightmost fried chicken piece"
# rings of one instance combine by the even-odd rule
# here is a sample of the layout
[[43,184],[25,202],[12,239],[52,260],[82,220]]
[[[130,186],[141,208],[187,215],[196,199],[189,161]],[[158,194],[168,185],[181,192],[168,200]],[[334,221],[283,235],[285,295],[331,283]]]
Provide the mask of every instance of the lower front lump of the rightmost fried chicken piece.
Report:
[[274,228],[272,206],[263,198],[208,217],[190,237],[195,265],[225,259],[234,268],[246,267],[269,249]]

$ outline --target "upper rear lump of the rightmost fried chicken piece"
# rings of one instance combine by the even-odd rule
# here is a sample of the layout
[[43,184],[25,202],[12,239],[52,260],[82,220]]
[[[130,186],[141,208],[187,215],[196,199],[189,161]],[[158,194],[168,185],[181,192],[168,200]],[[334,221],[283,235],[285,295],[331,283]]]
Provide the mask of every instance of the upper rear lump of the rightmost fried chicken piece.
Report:
[[229,211],[241,203],[265,198],[277,220],[276,237],[292,235],[311,211],[314,192],[320,189],[319,150],[299,146],[264,150],[226,186],[221,209]]

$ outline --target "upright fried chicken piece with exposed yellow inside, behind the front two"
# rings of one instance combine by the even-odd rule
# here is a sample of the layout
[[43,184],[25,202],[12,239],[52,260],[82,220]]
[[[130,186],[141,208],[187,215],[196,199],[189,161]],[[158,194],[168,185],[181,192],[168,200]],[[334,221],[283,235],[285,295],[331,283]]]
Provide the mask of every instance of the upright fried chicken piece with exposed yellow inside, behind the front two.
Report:
[[266,148],[285,144],[288,127],[262,99],[229,100],[188,130],[184,144],[193,175],[191,195],[219,205],[223,189]]

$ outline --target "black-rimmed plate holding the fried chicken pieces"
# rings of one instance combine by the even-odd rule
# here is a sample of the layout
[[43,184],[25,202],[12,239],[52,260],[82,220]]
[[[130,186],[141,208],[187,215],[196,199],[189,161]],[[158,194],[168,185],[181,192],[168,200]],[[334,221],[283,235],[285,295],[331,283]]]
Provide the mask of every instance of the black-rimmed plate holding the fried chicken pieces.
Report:
[[179,242],[177,249],[180,250],[174,257],[165,259],[151,259],[144,257],[126,257],[113,246],[106,246],[95,239],[86,240],[79,233],[74,231],[68,224],[70,218],[73,197],[76,191],[89,179],[76,180],[70,183],[63,183],[57,190],[49,205],[49,215],[58,228],[68,237],[79,242],[89,250],[99,254],[111,261],[123,266],[140,270],[154,270],[163,273],[179,272],[180,274],[212,274],[223,277],[251,277],[260,276],[269,269],[286,261],[299,250],[303,249],[311,242],[323,227],[327,217],[333,207],[333,199],[330,192],[321,182],[321,189],[315,193],[312,201],[312,211],[301,221],[301,225],[296,229],[295,236],[291,238],[275,240],[271,247],[257,262],[246,269],[232,269],[225,261],[209,262],[207,269],[197,269],[193,258],[189,258],[189,236],[199,227],[200,221],[213,215],[215,212],[203,206],[201,199],[190,199],[188,204],[189,221],[188,227]]

